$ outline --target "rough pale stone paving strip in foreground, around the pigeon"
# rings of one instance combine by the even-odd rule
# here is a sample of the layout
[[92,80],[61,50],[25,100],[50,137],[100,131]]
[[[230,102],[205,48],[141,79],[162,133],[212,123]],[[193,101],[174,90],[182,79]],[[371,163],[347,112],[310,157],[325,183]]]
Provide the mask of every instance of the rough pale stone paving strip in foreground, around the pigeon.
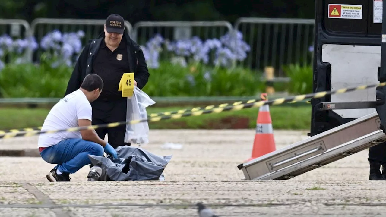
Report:
[[[34,211],[35,216],[51,216],[36,210],[49,208],[67,216],[197,216],[197,202],[204,202],[220,216],[381,216],[386,211],[385,191],[379,190],[384,183],[379,181],[101,181],[31,185],[53,203],[0,204],[0,211],[19,206],[31,215]],[[15,193],[12,197],[18,196]],[[37,199],[42,200],[39,195]]]

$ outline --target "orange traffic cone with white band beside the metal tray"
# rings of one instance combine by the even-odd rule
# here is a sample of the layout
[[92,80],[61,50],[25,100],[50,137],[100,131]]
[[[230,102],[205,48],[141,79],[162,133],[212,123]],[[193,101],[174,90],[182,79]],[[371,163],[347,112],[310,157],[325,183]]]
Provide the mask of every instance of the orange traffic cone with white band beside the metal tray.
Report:
[[[261,94],[261,100],[267,100],[267,93]],[[256,119],[256,134],[253,142],[251,161],[255,158],[271,153],[276,150],[275,140],[273,137],[273,127],[269,105],[263,105],[259,108],[259,114]]]

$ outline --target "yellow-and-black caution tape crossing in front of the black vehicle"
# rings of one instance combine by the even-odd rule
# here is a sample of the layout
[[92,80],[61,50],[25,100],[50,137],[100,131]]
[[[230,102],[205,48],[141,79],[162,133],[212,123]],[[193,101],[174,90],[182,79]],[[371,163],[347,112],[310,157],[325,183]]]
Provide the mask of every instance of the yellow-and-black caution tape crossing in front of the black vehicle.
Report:
[[[108,124],[100,124],[100,125],[91,125],[86,127],[72,127],[68,129],[59,129],[59,130],[49,130],[49,131],[24,131],[24,132],[10,132],[3,135],[0,135],[0,139],[2,138],[12,138],[12,137],[28,137],[28,136],[35,136],[37,134],[45,134],[45,133],[54,133],[54,132],[72,132],[72,131],[81,131],[81,130],[90,130],[90,129],[98,129],[98,128],[113,128],[118,127],[120,125],[125,124],[138,124],[140,122],[157,122],[160,120],[168,120],[168,119],[180,119],[181,117],[189,117],[189,116],[199,116],[203,114],[211,114],[211,113],[220,113],[223,111],[230,111],[230,110],[242,110],[244,108],[258,108],[263,105],[280,105],[286,102],[292,102],[292,101],[301,101],[306,98],[322,98],[326,95],[330,94],[338,94],[338,93],[347,93],[347,92],[353,92],[356,90],[364,90],[368,88],[373,88],[377,86],[386,86],[386,82],[380,83],[378,85],[362,85],[357,86],[354,88],[342,88],[339,90],[334,91],[323,91],[323,92],[317,92],[317,93],[309,93],[309,94],[303,94],[303,95],[296,95],[293,97],[287,97],[287,98],[277,98],[275,100],[271,101],[258,101],[258,102],[247,102],[242,103],[239,105],[229,105],[225,107],[217,107],[212,108],[208,110],[199,110],[196,112],[186,112],[183,114],[171,114],[171,115],[164,115],[164,116],[158,116],[158,117],[150,117],[147,119],[141,119],[141,120],[131,120],[131,121],[122,121],[122,122],[113,122]],[[255,101],[255,100],[252,100]]]

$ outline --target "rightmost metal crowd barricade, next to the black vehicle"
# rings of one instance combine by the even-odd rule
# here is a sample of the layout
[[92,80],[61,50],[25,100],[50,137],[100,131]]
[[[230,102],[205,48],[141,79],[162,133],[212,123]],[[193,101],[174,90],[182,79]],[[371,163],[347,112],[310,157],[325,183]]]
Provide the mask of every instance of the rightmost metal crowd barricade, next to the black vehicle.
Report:
[[262,71],[274,67],[276,76],[283,77],[282,66],[312,64],[313,19],[240,18],[234,29],[243,34],[251,46],[244,67]]

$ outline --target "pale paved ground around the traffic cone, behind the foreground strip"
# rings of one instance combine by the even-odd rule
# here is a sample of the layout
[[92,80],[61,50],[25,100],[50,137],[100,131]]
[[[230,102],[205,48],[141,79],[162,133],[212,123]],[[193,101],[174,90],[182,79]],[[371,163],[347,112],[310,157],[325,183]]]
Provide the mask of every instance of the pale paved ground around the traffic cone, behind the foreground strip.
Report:
[[[307,138],[306,133],[275,131],[276,148],[303,140]],[[253,140],[253,130],[158,130],[152,132],[151,143],[141,147],[154,154],[173,155],[164,171],[167,181],[239,181],[244,175],[237,165],[251,156]],[[3,140],[0,149],[11,147],[6,141]],[[182,144],[183,148],[163,149],[166,142]],[[28,147],[33,146],[36,143]],[[353,154],[293,180],[367,180],[367,154],[367,150]],[[41,158],[0,157],[0,178],[3,181],[46,181],[45,176],[53,166]],[[71,180],[85,181],[88,170],[87,166],[83,167],[71,175]]]

